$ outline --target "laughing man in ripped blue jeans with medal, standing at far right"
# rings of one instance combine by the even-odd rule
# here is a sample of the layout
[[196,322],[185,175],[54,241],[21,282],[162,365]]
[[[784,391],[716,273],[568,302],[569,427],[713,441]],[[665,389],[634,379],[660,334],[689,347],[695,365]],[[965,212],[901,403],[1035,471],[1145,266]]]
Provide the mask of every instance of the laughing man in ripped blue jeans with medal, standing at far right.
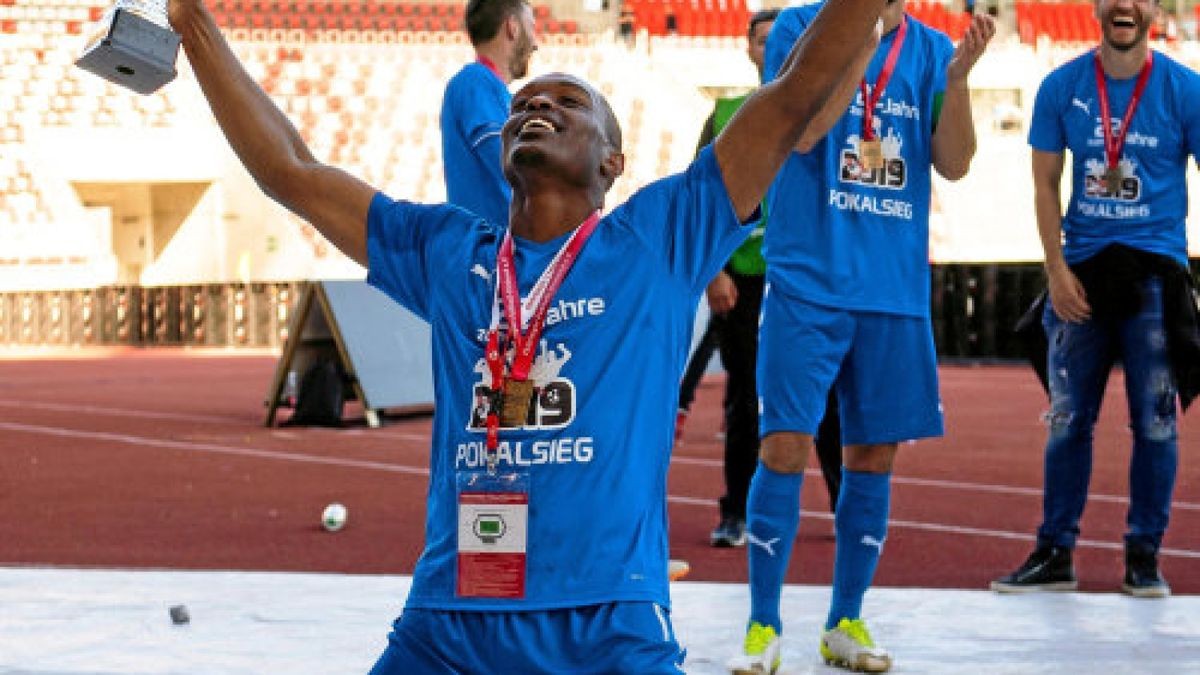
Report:
[[[1099,48],[1046,76],[1033,104],[1033,198],[1050,283],[1042,315],[1050,434],[1037,546],[1015,572],[992,581],[1000,592],[1076,587],[1072,551],[1087,501],[1092,435],[1120,359],[1133,430],[1121,589],[1138,597],[1170,593],[1158,549],[1178,466],[1177,374],[1189,370],[1186,350],[1169,336],[1180,334],[1183,317],[1171,307],[1193,301],[1184,219],[1188,157],[1200,156],[1200,77],[1150,49],[1158,12],[1152,0],[1099,0]],[[1073,166],[1063,214],[1066,149]],[[1187,331],[1195,335],[1194,321]],[[1192,395],[1183,394],[1184,406]]]

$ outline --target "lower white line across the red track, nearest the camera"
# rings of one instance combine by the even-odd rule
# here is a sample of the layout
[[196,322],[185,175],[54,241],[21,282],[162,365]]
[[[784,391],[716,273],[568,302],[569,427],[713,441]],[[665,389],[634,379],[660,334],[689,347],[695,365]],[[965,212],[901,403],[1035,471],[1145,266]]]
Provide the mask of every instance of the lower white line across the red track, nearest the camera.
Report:
[[[256,459],[271,459],[282,461],[299,461],[307,464],[324,464],[331,466],[342,466],[350,468],[365,468],[368,471],[386,471],[390,473],[407,473],[412,476],[428,476],[428,470],[419,466],[408,466],[400,464],[385,464],[379,461],[364,461],[353,459],[341,459],[341,458],[325,458],[318,455],[306,455],[300,453],[288,453],[280,450],[265,450],[262,448],[239,448],[232,446],[218,446],[216,443],[198,443],[193,441],[170,441],[164,438],[150,438],[145,436],[132,436],[128,434],[109,434],[106,431],[80,431],[74,429],[61,429],[56,426],[41,426],[34,424],[19,424],[14,422],[0,422],[0,429],[8,431],[24,432],[24,434],[41,434],[43,436],[60,436],[67,438],[88,438],[91,441],[108,441],[112,443],[126,443],[131,446],[150,447],[150,448],[173,448],[180,450],[193,450],[203,453],[215,453],[215,454],[227,454],[236,456],[247,456]],[[677,495],[668,495],[667,501],[671,503],[686,504],[686,506],[703,506],[712,508],[714,504],[713,500],[703,500],[698,497],[684,497]],[[803,514],[808,518],[817,518],[821,520],[832,520],[833,514],[824,512],[810,512],[805,510]],[[942,532],[942,533],[954,533],[954,534],[971,534],[977,537],[991,537],[998,539],[1016,539],[1032,542],[1034,537],[1032,534],[1022,532],[1008,532],[1004,530],[988,530],[983,527],[965,527],[960,525],[942,525],[940,522],[922,522],[916,520],[889,520],[889,526],[892,527],[904,527],[910,530],[922,530],[925,532]],[[1108,549],[1108,550],[1122,550],[1123,545],[1114,542],[1096,542],[1092,539],[1080,539],[1076,544],[1084,548],[1094,549]],[[1160,549],[1160,554],[1175,557],[1187,557],[1200,560],[1200,551],[1192,551],[1186,549]]]

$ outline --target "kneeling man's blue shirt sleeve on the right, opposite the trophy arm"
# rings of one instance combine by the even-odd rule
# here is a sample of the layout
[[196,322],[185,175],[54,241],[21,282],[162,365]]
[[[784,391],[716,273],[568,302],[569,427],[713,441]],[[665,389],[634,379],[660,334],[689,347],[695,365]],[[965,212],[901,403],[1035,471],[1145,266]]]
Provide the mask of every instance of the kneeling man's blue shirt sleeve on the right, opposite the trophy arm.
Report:
[[738,221],[713,147],[684,173],[643,187],[613,214],[672,276],[700,293],[761,220]]

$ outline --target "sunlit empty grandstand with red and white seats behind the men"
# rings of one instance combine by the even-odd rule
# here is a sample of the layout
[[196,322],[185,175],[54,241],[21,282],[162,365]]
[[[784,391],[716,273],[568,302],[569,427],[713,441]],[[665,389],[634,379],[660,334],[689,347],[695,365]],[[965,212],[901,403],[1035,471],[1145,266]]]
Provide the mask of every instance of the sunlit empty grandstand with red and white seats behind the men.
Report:
[[[278,315],[270,305],[298,281],[361,276],[316,231],[260,195],[209,117],[186,59],[178,79],[150,96],[74,67],[106,6],[0,0],[0,342],[47,333],[22,321],[82,311],[67,303],[70,311],[43,316],[52,303],[28,299],[37,291],[124,289],[154,316],[145,298],[168,293],[160,289],[228,287],[217,304],[248,316],[250,305],[239,310],[229,298],[258,288],[265,315]],[[212,0],[210,7],[316,155],[391,195],[444,198],[437,115],[444,82],[472,58],[462,2]],[[935,181],[935,263],[1040,259],[1025,131],[1042,77],[1094,43],[1091,7],[1001,8],[1002,37],[972,73],[973,171],[960,183]],[[566,71],[595,83],[625,130],[626,173],[610,203],[685,167],[712,97],[755,84],[742,55],[742,26],[754,8],[743,0],[535,2],[541,48],[533,74]],[[910,0],[908,11],[952,37],[966,22],[959,5]],[[1194,19],[1169,25],[1156,46],[1200,64],[1187,38]],[[1200,250],[1195,226],[1190,231],[1193,251]],[[89,304],[101,312],[119,295],[92,293]],[[43,318],[22,318],[35,315]],[[272,322],[278,325],[277,316]],[[146,330],[140,334],[154,334]],[[278,340],[263,327],[216,333]],[[84,340],[78,331],[56,334]],[[170,334],[187,330],[176,324]],[[208,339],[217,338],[210,331]]]

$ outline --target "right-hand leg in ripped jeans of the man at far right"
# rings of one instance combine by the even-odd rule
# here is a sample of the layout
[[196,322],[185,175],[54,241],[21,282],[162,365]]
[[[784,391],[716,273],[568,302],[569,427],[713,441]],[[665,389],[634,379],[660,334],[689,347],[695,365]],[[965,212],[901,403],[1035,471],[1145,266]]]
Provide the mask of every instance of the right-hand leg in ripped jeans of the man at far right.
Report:
[[1121,359],[1129,400],[1133,456],[1126,533],[1126,592],[1163,597],[1157,554],[1170,519],[1178,470],[1177,389],[1163,325],[1162,283],[1142,288],[1141,310],[1121,325]]

